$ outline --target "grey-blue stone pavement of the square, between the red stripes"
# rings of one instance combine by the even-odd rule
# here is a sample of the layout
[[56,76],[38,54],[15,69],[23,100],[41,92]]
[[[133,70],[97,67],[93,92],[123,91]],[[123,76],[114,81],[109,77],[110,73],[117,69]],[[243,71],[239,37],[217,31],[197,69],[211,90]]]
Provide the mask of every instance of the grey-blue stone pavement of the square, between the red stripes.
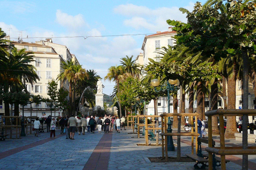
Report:
[[[76,133],[75,140],[66,139],[66,135],[60,134],[59,129],[56,133],[57,138],[50,138],[50,133],[44,132],[39,137],[32,134],[21,139],[0,141],[0,169],[85,169],[85,164],[95,147],[102,137],[105,138],[104,133],[98,133],[98,131],[85,135]],[[126,129],[121,133],[110,132],[108,135],[112,135],[108,169],[194,169],[194,162],[151,163],[148,157],[162,156],[161,146],[138,146],[137,144],[145,143],[145,139],[138,139],[137,134],[132,134],[132,130]],[[218,137],[214,138],[218,142]],[[181,141],[187,141],[181,142],[181,156],[190,154],[191,138],[181,139]],[[175,137],[173,141],[175,145],[177,143]],[[227,140],[227,142],[238,143],[235,140]],[[177,146],[175,151],[169,151],[168,155],[176,157]],[[229,158],[230,163],[226,165],[227,169],[242,169],[242,156]],[[95,159],[97,163],[98,158]],[[249,160],[249,167],[250,165],[256,167],[256,156],[249,156]],[[221,168],[217,167],[217,169]]]

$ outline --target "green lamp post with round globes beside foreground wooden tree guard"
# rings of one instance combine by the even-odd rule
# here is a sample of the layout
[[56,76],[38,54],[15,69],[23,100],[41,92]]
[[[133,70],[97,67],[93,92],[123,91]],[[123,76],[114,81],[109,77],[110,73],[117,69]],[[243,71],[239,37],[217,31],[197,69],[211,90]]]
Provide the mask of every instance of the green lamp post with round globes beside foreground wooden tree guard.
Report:
[[[171,80],[169,79],[165,84],[163,84],[161,86],[161,88],[159,90],[156,89],[156,87],[158,87],[160,85],[160,82],[158,81],[158,79],[153,79],[151,80],[151,86],[154,87],[156,92],[159,91],[167,91],[167,107],[168,107],[168,113],[170,113],[170,91],[177,91],[177,86],[179,86],[180,82],[178,79],[176,80]],[[168,122],[167,122],[168,128],[167,128],[167,132],[168,133],[172,133],[172,122],[171,122],[171,117],[168,118]],[[173,145],[173,139],[172,136],[167,136],[167,150],[168,151],[174,151],[175,147]]]

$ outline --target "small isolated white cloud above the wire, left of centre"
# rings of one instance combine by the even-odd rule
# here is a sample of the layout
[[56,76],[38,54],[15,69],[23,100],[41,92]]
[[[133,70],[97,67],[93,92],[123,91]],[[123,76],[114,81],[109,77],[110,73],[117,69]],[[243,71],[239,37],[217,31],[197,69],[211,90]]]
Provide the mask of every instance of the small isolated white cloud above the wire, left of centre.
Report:
[[57,10],[56,20],[63,27],[72,30],[77,30],[88,26],[87,23],[85,23],[82,14],[72,16],[68,15],[67,13],[63,13],[60,10]]

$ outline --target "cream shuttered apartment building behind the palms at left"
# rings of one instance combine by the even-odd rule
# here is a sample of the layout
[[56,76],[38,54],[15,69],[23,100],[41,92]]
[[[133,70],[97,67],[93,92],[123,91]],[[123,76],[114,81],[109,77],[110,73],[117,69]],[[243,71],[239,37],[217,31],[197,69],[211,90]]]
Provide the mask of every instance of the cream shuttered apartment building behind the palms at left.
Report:
[[[39,76],[40,80],[34,84],[26,83],[26,88],[30,94],[40,95],[43,98],[49,98],[47,95],[48,92],[48,82],[51,80],[56,80],[58,74],[61,71],[61,62],[65,61],[64,58],[58,54],[51,46],[45,44],[37,43],[27,43],[22,40],[12,44],[18,49],[26,49],[26,52],[34,53],[34,62],[31,63],[36,67],[36,73]],[[61,87],[60,81],[58,83],[58,89]],[[32,109],[30,108],[32,107]],[[31,112],[31,113],[30,113]],[[47,116],[51,114],[50,106],[47,106],[46,103],[41,103],[36,105],[32,103],[25,106],[25,116]],[[55,109],[52,111],[53,116],[61,115],[60,109]]]

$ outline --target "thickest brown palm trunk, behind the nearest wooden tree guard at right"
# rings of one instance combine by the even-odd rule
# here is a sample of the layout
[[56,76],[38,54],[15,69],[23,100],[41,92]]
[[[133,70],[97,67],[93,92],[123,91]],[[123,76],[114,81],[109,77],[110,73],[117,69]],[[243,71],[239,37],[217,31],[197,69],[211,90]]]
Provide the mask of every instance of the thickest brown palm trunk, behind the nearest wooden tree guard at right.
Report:
[[[228,77],[228,109],[236,108],[236,71],[233,69],[233,73]],[[227,117],[227,128],[225,132],[225,138],[235,138],[235,133],[237,133],[236,128],[236,117]]]

